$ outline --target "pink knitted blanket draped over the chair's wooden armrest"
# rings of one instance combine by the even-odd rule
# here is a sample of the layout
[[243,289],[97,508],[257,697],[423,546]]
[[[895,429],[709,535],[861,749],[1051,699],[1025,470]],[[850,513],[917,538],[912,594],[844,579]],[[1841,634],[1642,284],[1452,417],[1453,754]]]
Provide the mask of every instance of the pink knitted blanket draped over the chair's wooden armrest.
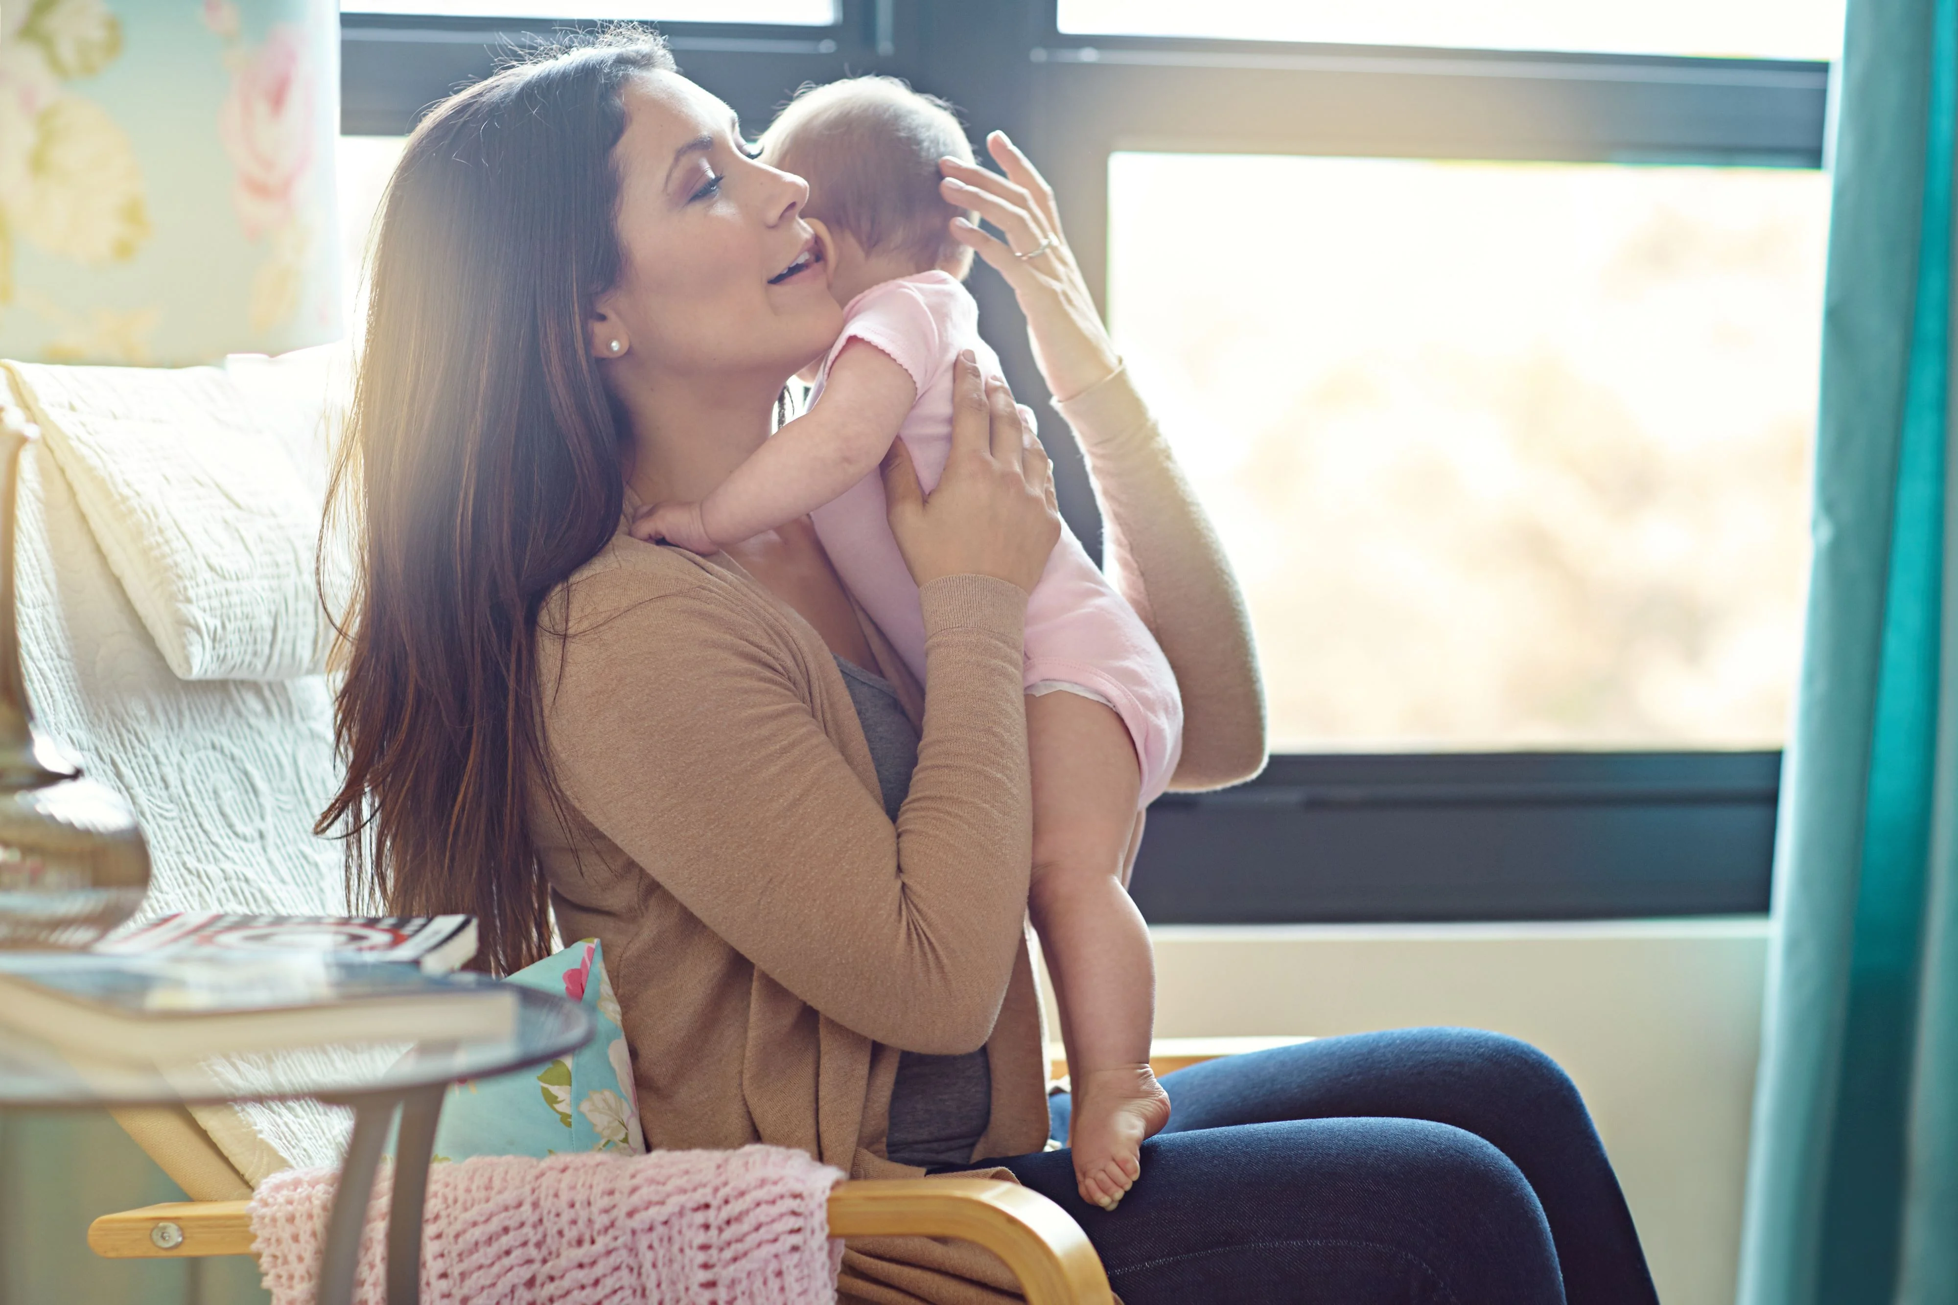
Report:
[[[309,1305],[335,1170],[272,1174],[251,1199],[274,1305]],[[836,1299],[842,1172],[801,1150],[656,1150],[613,1158],[478,1156],[437,1164],[421,1242],[423,1305],[807,1305]],[[384,1305],[384,1164],[360,1242],[358,1305]]]

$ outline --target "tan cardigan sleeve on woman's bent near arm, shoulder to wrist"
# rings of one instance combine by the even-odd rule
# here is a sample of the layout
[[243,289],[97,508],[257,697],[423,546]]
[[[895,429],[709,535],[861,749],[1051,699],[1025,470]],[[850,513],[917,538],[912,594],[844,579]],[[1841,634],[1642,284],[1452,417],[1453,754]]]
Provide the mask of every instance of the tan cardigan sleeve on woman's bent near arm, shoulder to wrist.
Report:
[[895,826],[793,642],[724,597],[574,597],[546,734],[568,802],[756,968],[865,1037],[948,1055],[991,1033],[1026,916],[1026,595],[954,575],[922,605],[932,689]]

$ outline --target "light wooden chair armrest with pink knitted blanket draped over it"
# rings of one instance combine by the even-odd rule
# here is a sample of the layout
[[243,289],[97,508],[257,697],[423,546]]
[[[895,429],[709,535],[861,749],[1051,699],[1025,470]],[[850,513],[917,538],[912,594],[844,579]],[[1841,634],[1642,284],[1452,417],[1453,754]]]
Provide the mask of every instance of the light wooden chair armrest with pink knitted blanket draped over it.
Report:
[[[948,1237],[985,1246],[1020,1280],[1028,1305],[1108,1305],[1108,1276],[1059,1205],[989,1178],[844,1182],[830,1192],[832,1237]],[[110,1260],[251,1254],[247,1201],[170,1201],[102,1215],[88,1248]]]

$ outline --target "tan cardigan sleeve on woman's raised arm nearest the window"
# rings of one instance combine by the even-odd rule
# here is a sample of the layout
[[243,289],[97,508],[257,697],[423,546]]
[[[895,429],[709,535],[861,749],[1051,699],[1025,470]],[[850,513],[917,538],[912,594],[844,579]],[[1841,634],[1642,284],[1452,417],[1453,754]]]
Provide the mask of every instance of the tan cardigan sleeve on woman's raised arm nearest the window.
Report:
[[1265,769],[1265,689],[1251,618],[1210,518],[1128,370],[1053,405],[1087,454],[1104,567],[1161,644],[1183,695],[1171,788],[1222,788]]

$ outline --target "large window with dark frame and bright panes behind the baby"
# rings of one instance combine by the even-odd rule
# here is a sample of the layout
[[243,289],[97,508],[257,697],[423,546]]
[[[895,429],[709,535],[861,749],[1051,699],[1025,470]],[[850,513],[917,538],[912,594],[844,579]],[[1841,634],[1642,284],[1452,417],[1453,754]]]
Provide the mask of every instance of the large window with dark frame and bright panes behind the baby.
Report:
[[[370,2],[354,135],[599,16]],[[646,4],[750,131],[891,72],[1053,182],[1243,571],[1282,753],[1151,810],[1145,916],[1766,908],[1841,0]],[[1038,407],[1010,293],[973,293]]]

